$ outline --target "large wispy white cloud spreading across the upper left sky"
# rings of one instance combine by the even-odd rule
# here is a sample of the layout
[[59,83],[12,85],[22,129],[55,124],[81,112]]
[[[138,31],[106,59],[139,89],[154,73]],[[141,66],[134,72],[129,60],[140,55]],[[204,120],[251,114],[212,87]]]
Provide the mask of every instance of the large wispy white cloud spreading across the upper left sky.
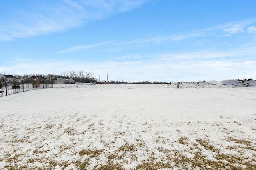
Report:
[[[49,4],[38,1],[39,4],[35,4],[36,8],[33,6],[34,2],[29,1],[26,11],[20,7],[12,12],[7,11],[5,16],[1,17],[0,41],[65,31],[90,20],[99,20],[118,12],[137,8],[146,1],[62,0],[58,2],[49,1]],[[35,11],[35,9],[37,10]]]

